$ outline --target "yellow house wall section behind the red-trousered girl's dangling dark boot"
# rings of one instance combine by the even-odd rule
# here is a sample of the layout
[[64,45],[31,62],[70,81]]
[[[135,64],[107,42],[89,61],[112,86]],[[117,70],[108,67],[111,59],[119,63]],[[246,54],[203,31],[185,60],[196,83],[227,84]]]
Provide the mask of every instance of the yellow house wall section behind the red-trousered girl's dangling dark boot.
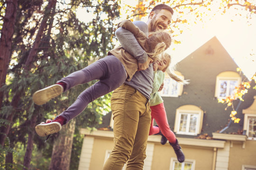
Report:
[[[213,148],[181,145],[185,158],[195,160],[195,170],[212,170]],[[176,158],[169,144],[155,144],[152,170],[169,170],[171,158]]]

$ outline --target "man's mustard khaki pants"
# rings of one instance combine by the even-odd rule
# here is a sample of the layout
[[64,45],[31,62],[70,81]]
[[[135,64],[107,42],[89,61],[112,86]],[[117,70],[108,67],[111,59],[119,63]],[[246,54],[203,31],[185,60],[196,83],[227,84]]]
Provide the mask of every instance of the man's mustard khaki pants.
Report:
[[114,119],[114,149],[103,170],[142,170],[151,122],[146,97],[129,85],[121,85],[111,97]]

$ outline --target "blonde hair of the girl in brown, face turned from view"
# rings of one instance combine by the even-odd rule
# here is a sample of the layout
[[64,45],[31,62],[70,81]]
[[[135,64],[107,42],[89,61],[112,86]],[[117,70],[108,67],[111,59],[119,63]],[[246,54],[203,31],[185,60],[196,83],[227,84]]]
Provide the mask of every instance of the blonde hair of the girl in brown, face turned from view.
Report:
[[146,41],[147,54],[154,61],[159,59],[160,54],[170,47],[171,34],[165,30],[150,32]]

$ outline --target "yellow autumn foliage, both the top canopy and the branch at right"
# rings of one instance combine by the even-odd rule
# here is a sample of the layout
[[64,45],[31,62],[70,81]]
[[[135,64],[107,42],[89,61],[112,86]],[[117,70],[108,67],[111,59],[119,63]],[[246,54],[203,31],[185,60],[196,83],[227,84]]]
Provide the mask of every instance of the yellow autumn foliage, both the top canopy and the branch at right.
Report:
[[[239,0],[174,0],[174,1],[163,1],[163,0],[144,0],[143,2],[138,0],[138,4],[136,7],[132,7],[126,5],[124,8],[127,11],[131,11],[127,18],[132,17],[145,17],[149,11],[155,7],[158,3],[165,3],[174,9],[174,18],[171,23],[170,29],[172,29],[173,39],[175,44],[181,43],[179,40],[179,35],[183,34],[182,28],[188,28],[189,25],[197,24],[198,22],[204,22],[203,16],[208,16],[211,18],[216,13],[225,14],[230,9],[237,10],[237,15],[246,15],[248,21],[252,20],[256,16],[256,3],[254,1],[239,1]],[[214,11],[214,13],[212,13]],[[194,16],[194,17],[188,17]],[[235,17],[235,16],[234,16]],[[208,19],[209,19],[208,18]],[[232,20],[232,18],[230,18]],[[251,54],[254,55],[255,54]],[[254,60],[252,62],[255,62]],[[238,71],[241,72],[241,69],[238,68]],[[219,102],[227,104],[227,108],[229,106],[232,107],[232,111],[230,113],[230,118],[235,123],[239,122],[239,118],[236,117],[237,111],[234,108],[233,101],[239,99],[243,101],[243,95],[248,92],[250,88],[250,84],[252,81],[255,81],[256,75],[250,77],[251,80],[243,80],[238,87],[235,89],[234,96],[228,96],[226,99],[220,99]],[[256,90],[256,87],[253,87]],[[227,109],[226,108],[226,109]]]

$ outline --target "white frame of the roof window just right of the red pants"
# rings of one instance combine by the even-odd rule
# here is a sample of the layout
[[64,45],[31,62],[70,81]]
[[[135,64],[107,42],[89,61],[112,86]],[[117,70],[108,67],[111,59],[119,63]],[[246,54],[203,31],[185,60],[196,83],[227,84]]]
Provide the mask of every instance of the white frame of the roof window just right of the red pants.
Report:
[[[182,132],[180,131],[180,126],[181,126],[181,115],[182,114],[197,114],[197,121],[196,121],[196,127],[195,127],[195,132],[188,132],[187,130],[189,129],[189,127],[186,127],[186,132]],[[175,119],[175,129],[174,131],[176,132],[176,134],[181,134],[181,135],[192,135],[192,136],[197,136],[197,134],[201,133],[201,121],[202,121],[202,110],[176,110],[176,119]],[[189,116],[190,118],[190,116]],[[187,120],[189,120],[189,125],[190,125],[190,119],[187,118]],[[188,124],[188,123],[187,123]]]

